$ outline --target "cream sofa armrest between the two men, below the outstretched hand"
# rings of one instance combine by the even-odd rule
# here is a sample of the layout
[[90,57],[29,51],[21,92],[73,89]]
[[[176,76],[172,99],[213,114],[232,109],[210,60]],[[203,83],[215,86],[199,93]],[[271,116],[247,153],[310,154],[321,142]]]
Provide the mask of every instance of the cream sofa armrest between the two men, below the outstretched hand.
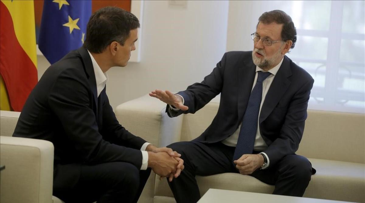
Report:
[[116,107],[119,123],[132,134],[154,146],[164,147],[180,141],[183,116],[168,118],[166,104],[145,95]]

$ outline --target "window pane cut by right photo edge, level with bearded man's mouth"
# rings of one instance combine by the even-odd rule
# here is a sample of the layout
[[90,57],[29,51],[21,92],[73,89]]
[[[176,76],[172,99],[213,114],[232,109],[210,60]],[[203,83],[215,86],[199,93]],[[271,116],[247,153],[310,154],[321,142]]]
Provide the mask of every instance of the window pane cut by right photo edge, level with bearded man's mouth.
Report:
[[341,40],[341,61],[350,61],[365,64],[364,56],[365,40]]

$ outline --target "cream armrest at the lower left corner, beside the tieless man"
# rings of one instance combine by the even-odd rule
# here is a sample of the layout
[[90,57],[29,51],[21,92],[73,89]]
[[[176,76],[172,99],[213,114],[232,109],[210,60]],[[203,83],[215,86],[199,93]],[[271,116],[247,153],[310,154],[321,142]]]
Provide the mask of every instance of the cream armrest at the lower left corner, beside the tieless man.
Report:
[[52,202],[53,144],[0,136],[0,202]]

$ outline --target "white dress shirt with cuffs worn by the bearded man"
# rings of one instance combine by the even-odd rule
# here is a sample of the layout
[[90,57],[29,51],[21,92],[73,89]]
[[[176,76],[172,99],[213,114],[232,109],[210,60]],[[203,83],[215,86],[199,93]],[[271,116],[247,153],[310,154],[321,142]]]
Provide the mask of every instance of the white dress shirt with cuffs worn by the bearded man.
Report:
[[[258,75],[257,72],[258,71],[270,72],[271,73],[271,75],[269,77],[267,77],[264,81],[262,81],[262,100],[261,100],[260,110],[258,112],[258,115],[260,115],[261,107],[262,107],[262,104],[264,104],[266,94],[269,91],[270,85],[271,85],[272,81],[274,80],[277,71],[279,70],[281,64],[283,63],[283,60],[284,60],[284,58],[281,59],[279,64],[277,64],[274,68],[270,69],[269,71],[264,71],[260,67],[256,66],[256,74],[255,74],[255,79],[254,79],[254,82],[253,82],[253,85],[252,85],[252,89],[255,87],[255,84],[256,84],[256,81],[257,81],[257,75]],[[252,89],[251,89],[251,91],[252,91]],[[181,95],[178,95],[178,96],[181,96]],[[183,96],[181,96],[181,97],[183,98],[183,103],[185,103],[184,97]],[[170,106],[170,108],[174,111],[178,111],[177,108],[172,108],[171,106]],[[260,118],[260,116],[258,116],[258,117]],[[240,123],[242,123],[242,121],[240,121]],[[228,138],[222,140],[222,143],[227,145],[227,146],[236,147],[240,130],[241,130],[241,124],[239,124],[237,130],[231,136],[229,136]],[[265,143],[264,139],[261,136],[259,122],[257,122],[257,132],[256,132],[255,144],[254,144],[253,149],[255,151],[264,151],[267,147],[268,147],[267,144]],[[269,167],[270,159],[269,159],[268,155],[265,152],[261,152],[260,154],[265,155],[266,159],[268,160],[268,164],[265,167],[262,168],[262,169],[265,169],[265,168]]]

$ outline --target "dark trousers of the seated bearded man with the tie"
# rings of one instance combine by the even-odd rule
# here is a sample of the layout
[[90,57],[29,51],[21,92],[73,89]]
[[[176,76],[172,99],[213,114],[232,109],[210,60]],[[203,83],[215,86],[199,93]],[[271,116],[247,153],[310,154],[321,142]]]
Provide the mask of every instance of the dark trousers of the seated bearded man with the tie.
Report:
[[[169,182],[177,203],[193,203],[200,199],[195,175],[207,176],[226,172],[239,173],[233,166],[235,147],[222,143],[205,144],[196,141],[170,144],[184,159],[185,169],[181,175]],[[312,166],[307,158],[288,155],[265,170],[256,170],[253,176],[264,183],[275,185],[273,194],[303,196],[311,180]],[[242,183],[245,184],[245,183]]]

